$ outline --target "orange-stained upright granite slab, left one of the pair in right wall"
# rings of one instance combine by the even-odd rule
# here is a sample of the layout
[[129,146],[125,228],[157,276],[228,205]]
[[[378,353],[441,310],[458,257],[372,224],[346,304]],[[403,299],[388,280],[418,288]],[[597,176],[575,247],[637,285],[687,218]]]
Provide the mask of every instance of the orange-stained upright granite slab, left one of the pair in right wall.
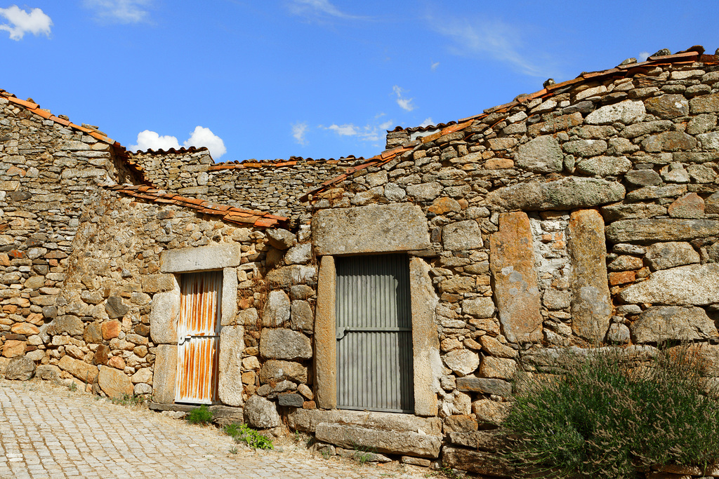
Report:
[[512,343],[541,341],[539,287],[526,213],[500,215],[499,231],[490,236],[490,270],[505,337]]

